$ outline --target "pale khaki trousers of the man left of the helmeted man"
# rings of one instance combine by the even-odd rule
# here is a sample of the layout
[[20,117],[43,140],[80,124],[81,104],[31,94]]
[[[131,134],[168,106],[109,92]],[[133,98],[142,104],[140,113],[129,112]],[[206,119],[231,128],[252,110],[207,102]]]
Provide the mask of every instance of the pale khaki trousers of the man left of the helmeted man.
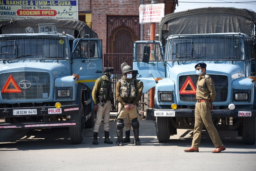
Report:
[[97,103],[98,111],[96,116],[96,122],[94,125],[94,132],[99,132],[100,125],[103,119],[103,125],[104,125],[104,131],[110,130],[110,109],[111,109],[111,102],[110,100],[107,100],[107,102],[104,104],[105,106],[102,107],[100,103]]

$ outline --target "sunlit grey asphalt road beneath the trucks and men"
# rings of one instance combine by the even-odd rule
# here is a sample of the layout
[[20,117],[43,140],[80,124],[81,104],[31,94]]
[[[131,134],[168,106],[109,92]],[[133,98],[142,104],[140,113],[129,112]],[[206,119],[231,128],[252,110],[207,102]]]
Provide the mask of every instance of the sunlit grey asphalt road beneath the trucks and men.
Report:
[[[68,128],[0,131],[0,171],[223,171],[256,170],[256,145],[245,145],[236,131],[219,131],[226,150],[213,154],[212,141],[202,134],[199,153],[185,153],[192,130],[178,129],[168,143],[159,143],[155,122],[140,120],[141,146],[117,146],[111,121],[110,139],[104,144],[103,125],[99,144],[92,145],[93,129],[84,132],[81,144],[71,144]],[[133,139],[133,134],[131,134]]]

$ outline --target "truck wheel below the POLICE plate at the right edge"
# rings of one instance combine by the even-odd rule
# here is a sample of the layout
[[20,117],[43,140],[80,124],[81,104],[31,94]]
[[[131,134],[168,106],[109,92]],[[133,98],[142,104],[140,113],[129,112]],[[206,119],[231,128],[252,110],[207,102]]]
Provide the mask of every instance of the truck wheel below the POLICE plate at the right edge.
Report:
[[255,144],[255,140],[256,140],[255,117],[244,118],[244,130],[243,130],[242,140],[243,140],[243,143],[245,144]]

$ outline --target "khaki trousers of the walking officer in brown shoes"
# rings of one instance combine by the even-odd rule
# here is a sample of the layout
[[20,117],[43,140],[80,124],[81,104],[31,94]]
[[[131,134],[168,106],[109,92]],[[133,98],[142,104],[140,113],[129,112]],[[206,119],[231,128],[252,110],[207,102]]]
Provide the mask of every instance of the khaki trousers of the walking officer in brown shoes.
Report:
[[197,102],[195,106],[195,125],[194,134],[192,140],[193,147],[199,147],[202,135],[203,124],[213,141],[215,148],[222,146],[222,141],[220,140],[217,129],[212,122],[212,116],[210,114],[210,102]]

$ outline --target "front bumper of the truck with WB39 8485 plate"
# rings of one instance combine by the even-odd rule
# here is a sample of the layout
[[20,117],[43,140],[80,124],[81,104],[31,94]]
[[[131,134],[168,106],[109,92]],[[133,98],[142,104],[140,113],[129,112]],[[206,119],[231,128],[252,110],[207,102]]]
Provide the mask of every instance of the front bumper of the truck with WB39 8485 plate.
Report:
[[[174,113],[172,113],[174,111]],[[170,114],[172,113],[172,114]],[[155,117],[194,117],[194,109],[153,109]],[[243,109],[215,109],[211,111],[212,117],[256,117],[256,110]]]

